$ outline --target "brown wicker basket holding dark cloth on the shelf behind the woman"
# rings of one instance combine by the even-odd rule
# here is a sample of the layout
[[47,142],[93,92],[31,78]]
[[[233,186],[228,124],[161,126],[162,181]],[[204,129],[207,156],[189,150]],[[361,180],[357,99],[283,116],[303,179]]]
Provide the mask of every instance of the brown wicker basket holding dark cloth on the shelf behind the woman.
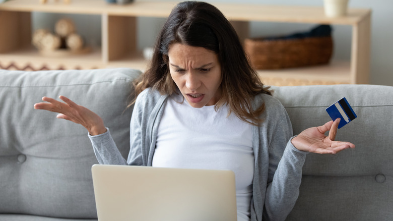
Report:
[[333,40],[328,37],[264,40],[247,38],[244,49],[255,69],[283,69],[328,64]]

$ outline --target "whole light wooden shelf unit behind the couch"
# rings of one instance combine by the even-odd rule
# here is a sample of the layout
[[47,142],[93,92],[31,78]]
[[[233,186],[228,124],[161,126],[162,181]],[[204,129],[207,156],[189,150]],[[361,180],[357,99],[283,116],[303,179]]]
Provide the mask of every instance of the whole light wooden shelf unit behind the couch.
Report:
[[[13,0],[0,4],[0,68],[13,66],[91,69],[129,67],[145,70],[148,61],[137,49],[137,18],[169,15],[176,2],[107,4],[104,0],[74,0],[71,4],[38,0]],[[241,39],[249,35],[249,22],[287,22],[348,25],[352,28],[350,61],[324,66],[258,71],[266,84],[367,84],[369,82],[369,9],[349,9],[340,18],[324,16],[322,7],[267,6],[259,4],[214,4],[231,21]],[[45,58],[31,48],[31,12],[94,14],[101,16],[101,48],[65,58]],[[23,69],[23,68],[22,68]],[[34,68],[32,68],[34,69]]]

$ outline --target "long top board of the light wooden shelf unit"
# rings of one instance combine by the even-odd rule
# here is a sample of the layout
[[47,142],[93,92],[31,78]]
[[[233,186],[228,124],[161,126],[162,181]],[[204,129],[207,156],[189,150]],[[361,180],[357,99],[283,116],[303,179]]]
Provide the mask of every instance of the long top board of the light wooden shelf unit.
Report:
[[[48,1],[40,4],[35,0],[13,0],[0,5],[2,11],[50,12],[71,14],[108,14],[133,17],[169,16],[177,2],[135,2],[127,5],[107,4],[104,0],[75,0],[71,4]],[[260,4],[213,4],[230,20],[270,21],[355,25],[371,13],[369,9],[349,9],[348,15],[339,18],[324,16],[322,7],[271,6]]]

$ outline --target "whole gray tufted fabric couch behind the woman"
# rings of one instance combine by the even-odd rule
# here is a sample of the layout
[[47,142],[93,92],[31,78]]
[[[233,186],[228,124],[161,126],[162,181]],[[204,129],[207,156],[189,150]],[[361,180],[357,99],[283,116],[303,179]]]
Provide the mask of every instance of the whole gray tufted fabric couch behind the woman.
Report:
[[[42,96],[64,95],[100,115],[124,156],[126,108],[140,74],[130,69],[0,71],[0,220],[95,220],[87,131],[33,109]],[[393,87],[276,87],[294,134],[330,118],[325,108],[347,97],[358,118],[337,139],[355,149],[308,154],[299,199],[288,220],[393,220]],[[186,220],[186,219],[185,219]]]

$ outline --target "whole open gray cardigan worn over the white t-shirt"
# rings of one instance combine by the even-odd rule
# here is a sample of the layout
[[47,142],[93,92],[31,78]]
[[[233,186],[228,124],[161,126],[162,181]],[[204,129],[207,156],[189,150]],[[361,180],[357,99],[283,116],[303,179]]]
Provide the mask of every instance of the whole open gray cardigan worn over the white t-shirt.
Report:
[[[153,89],[139,94],[130,122],[127,160],[121,156],[109,130],[101,135],[89,135],[99,163],[151,166],[166,100],[167,96]],[[254,98],[253,107],[263,103],[266,111],[260,117],[264,122],[252,127],[255,167],[250,220],[284,220],[298,197],[307,153],[290,142],[292,125],[280,101],[260,94]]]

